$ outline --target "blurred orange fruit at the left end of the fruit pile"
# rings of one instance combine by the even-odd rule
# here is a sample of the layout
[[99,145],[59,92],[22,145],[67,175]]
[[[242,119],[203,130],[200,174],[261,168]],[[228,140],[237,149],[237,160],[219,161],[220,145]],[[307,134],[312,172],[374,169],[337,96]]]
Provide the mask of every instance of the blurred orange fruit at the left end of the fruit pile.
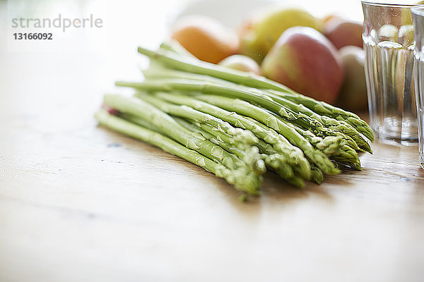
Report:
[[198,59],[218,63],[237,53],[237,36],[218,20],[206,16],[187,16],[175,23],[172,39]]

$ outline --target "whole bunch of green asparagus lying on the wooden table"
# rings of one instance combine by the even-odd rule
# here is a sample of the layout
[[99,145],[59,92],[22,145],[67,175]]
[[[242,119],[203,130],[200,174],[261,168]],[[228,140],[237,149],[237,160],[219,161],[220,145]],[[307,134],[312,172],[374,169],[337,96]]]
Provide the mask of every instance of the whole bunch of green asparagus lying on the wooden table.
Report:
[[175,43],[150,58],[133,97],[106,94],[99,123],[175,154],[258,195],[266,170],[291,185],[321,183],[338,167],[361,170],[370,127],[355,114],[264,77],[199,61]]

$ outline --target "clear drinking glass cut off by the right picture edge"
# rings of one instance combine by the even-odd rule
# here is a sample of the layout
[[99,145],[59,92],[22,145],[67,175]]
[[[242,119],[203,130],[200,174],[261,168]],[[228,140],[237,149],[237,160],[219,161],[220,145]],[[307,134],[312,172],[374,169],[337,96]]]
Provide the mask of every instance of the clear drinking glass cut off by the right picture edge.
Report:
[[424,6],[412,8],[415,37],[415,92],[418,113],[418,154],[424,168]]

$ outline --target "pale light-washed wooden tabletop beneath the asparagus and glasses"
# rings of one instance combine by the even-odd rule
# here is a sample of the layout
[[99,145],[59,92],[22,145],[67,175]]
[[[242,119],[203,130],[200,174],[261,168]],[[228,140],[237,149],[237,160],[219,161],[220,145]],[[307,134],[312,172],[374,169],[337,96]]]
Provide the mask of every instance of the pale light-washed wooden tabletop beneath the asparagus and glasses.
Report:
[[121,54],[2,50],[0,281],[424,281],[417,147],[375,144],[364,171],[304,189],[268,174],[241,203],[96,125],[103,92],[137,75]]

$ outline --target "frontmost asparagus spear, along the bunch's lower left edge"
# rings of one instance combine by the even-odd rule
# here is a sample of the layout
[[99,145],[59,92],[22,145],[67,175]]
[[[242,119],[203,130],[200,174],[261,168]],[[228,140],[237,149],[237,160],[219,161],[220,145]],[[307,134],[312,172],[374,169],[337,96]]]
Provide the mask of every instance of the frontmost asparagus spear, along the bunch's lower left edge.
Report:
[[249,195],[259,195],[259,183],[256,176],[237,176],[234,171],[226,168],[222,164],[204,157],[193,149],[180,145],[178,142],[161,135],[153,130],[143,128],[123,118],[108,114],[105,110],[98,111],[95,114],[98,122],[107,128],[116,130],[119,133],[129,135],[136,139],[147,142],[156,147],[160,147],[166,152],[170,152],[177,157],[181,157],[192,164],[196,164],[206,171],[209,171],[220,178],[224,178],[228,183],[235,186],[237,190],[247,192]]

